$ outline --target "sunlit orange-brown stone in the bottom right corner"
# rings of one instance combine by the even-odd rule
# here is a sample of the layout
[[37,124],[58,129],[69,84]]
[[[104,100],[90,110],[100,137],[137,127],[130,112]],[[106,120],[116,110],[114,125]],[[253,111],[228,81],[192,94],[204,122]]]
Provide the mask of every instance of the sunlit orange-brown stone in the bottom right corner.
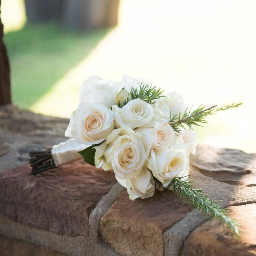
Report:
[[256,204],[231,206],[230,216],[241,226],[241,240],[223,230],[218,220],[197,227],[185,240],[182,255],[252,256],[256,255]]

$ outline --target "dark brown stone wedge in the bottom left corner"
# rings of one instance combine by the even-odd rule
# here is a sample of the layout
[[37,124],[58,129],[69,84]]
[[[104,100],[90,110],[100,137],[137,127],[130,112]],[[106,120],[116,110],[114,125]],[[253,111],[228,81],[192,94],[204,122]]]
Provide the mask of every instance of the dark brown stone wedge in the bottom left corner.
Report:
[[65,256],[49,247],[27,243],[22,240],[13,239],[0,235],[1,256]]

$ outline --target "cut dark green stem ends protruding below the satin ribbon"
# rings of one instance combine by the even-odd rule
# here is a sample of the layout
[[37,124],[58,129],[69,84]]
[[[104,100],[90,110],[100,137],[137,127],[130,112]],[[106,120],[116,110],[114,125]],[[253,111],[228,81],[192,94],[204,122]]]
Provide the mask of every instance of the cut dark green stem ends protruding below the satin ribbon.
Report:
[[42,171],[56,168],[53,161],[51,148],[46,148],[44,151],[31,151],[29,156],[31,174],[36,175]]

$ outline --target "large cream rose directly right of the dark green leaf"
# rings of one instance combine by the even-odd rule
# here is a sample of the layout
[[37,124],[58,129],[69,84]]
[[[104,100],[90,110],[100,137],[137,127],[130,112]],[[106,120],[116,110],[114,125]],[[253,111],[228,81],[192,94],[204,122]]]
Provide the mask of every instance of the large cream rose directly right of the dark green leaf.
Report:
[[94,147],[96,166],[102,165],[104,170],[113,169],[120,179],[139,175],[147,158],[139,135],[130,127],[112,131],[102,145]]

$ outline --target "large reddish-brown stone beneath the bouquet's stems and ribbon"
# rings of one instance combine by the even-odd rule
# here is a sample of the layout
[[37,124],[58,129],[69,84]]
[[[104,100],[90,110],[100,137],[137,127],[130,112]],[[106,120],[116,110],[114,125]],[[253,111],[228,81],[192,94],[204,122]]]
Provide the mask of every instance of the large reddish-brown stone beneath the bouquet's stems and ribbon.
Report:
[[38,229],[88,235],[88,218],[116,183],[83,160],[33,176],[28,164],[0,173],[0,215]]

